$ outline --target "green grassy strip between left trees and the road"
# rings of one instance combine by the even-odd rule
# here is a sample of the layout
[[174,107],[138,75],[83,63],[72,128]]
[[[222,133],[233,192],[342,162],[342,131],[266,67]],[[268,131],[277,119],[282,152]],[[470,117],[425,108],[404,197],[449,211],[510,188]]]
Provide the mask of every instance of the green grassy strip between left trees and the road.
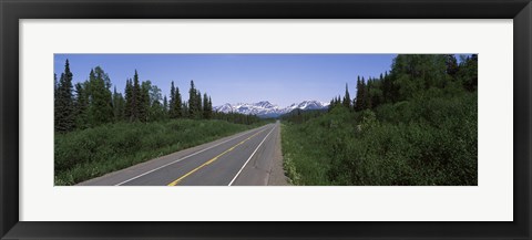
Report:
[[257,127],[225,121],[115,123],[55,134],[54,184],[78,182]]

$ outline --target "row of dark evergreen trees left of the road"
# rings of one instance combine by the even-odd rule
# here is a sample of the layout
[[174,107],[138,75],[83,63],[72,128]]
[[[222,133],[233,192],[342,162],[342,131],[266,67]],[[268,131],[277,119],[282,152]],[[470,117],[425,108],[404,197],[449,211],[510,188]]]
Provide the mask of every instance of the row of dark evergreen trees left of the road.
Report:
[[84,129],[116,122],[155,122],[164,119],[225,119],[234,123],[253,124],[256,116],[224,114],[213,111],[213,102],[191,80],[188,100],[184,101],[180,88],[171,82],[170,100],[150,80],[141,81],[135,70],[127,79],[124,94],[116,91],[109,74],[102,67],[91,70],[89,79],[72,84],[73,74],[69,60],[58,81],[54,74],[54,129],[59,133]]

